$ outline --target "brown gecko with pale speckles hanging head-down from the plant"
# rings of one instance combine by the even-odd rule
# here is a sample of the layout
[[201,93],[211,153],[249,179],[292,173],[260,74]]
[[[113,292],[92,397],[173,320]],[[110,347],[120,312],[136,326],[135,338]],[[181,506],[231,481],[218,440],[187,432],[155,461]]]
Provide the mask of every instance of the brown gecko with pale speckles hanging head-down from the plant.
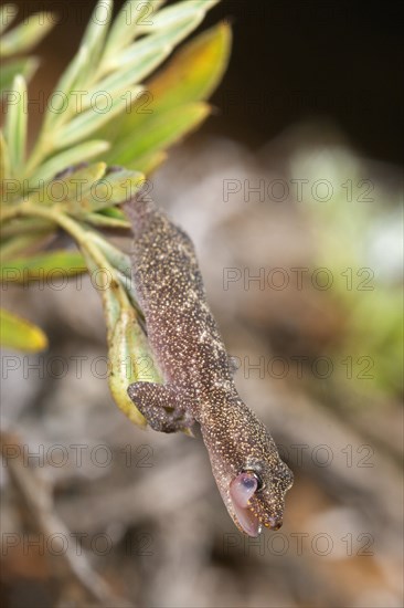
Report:
[[124,210],[135,238],[134,286],[164,379],[134,382],[128,395],[156,431],[187,432],[199,423],[219,491],[241,532],[255,537],[263,526],[278,530],[294,476],[236,390],[193,243],[145,189]]

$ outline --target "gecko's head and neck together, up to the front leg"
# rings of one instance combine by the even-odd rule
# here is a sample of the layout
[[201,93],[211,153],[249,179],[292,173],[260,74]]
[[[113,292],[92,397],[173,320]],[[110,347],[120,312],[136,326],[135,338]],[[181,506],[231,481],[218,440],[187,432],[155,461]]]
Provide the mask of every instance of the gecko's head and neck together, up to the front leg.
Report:
[[242,401],[232,401],[223,417],[214,417],[216,411],[201,428],[228,514],[248,536],[258,536],[263,527],[278,530],[285,494],[294,482],[290,469],[265,426]]

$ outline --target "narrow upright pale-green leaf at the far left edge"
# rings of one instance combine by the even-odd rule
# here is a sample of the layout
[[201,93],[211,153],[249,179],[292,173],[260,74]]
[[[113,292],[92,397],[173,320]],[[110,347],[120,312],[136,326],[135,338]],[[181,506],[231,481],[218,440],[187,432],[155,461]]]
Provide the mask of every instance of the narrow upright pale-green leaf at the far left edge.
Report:
[[13,175],[19,175],[23,164],[26,144],[28,113],[26,83],[23,76],[15,76],[12,85],[14,99],[9,99],[4,126],[4,135],[9,148],[10,165]]

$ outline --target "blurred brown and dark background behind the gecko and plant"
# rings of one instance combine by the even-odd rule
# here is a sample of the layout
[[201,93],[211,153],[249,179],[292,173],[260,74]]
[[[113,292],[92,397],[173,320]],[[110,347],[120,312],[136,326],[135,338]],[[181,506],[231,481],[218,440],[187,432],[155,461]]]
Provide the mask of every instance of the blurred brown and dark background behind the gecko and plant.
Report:
[[[94,2],[18,4],[63,14],[38,49],[46,95]],[[403,606],[398,9],[223,1],[200,28],[233,25],[215,112],[152,176],[295,473],[284,526],[242,536],[199,431],[117,409],[89,279],[9,286],[51,347],[2,354],[2,606]]]

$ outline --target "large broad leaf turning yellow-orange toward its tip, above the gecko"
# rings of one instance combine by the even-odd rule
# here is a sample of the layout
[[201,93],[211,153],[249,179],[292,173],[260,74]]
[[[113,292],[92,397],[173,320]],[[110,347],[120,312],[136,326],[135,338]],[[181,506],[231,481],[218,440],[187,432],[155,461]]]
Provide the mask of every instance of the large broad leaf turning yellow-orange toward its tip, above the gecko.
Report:
[[130,114],[119,116],[102,132],[113,141],[108,163],[136,167],[146,175],[155,170],[164,160],[163,150],[208,116],[204,106],[199,120],[190,119],[189,113],[194,111],[189,104],[212,94],[226,69],[230,48],[231,30],[220,24],[178,51],[150,81],[142,95],[146,103],[134,104]]

